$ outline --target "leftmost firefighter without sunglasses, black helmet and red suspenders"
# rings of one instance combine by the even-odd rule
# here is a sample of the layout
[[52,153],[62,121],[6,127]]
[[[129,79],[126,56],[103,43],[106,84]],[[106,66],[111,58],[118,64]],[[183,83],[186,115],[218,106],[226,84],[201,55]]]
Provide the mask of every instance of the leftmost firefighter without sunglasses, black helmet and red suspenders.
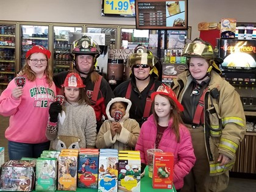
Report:
[[[79,73],[85,85],[85,94],[91,101],[96,115],[98,130],[102,124],[102,116],[105,114],[105,108],[108,102],[114,97],[112,89],[107,80],[95,71],[96,60],[99,57],[100,48],[96,42],[87,36],[74,41],[71,45],[71,57],[73,58],[74,72]],[[58,88],[61,88],[68,71],[54,75],[54,82]]]

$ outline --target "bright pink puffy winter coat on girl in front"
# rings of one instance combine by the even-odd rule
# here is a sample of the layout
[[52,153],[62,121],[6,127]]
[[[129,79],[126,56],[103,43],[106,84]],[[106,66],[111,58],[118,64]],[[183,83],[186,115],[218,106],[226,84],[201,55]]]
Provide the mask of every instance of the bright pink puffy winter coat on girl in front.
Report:
[[[173,183],[174,187],[179,190],[183,187],[183,177],[190,172],[194,162],[196,162],[196,157],[194,156],[191,136],[187,127],[180,124],[180,142],[177,143],[176,135],[170,128],[171,124],[172,119],[169,121],[168,128],[163,132],[158,149],[174,154]],[[140,136],[135,147],[136,151],[140,151],[141,163],[148,165],[147,150],[154,148],[156,135],[157,126],[154,123],[154,116],[151,115],[148,121],[141,126]]]

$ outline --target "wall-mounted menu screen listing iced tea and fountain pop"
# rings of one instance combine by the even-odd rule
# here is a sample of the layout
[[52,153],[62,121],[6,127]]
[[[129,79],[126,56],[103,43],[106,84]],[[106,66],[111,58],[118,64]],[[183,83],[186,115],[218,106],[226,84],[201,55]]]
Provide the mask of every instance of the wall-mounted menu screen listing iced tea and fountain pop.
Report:
[[136,29],[187,29],[188,1],[136,0]]

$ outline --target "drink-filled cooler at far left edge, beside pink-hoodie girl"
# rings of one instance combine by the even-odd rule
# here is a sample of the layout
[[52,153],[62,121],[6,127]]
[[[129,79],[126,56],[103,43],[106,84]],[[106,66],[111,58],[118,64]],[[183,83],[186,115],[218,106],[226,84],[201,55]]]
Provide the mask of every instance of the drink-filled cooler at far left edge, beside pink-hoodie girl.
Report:
[[0,94],[16,73],[17,23],[0,22]]

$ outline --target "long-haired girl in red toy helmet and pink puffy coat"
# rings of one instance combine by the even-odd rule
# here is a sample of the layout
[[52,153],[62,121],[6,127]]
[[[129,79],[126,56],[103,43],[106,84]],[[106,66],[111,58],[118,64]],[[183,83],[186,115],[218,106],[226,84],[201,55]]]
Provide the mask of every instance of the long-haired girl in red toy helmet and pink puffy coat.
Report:
[[177,101],[171,88],[162,84],[151,94],[153,114],[142,127],[135,150],[140,151],[141,172],[147,162],[147,150],[162,149],[174,154],[173,182],[177,191],[183,186],[185,177],[193,167],[196,158],[191,143],[190,132],[182,124],[180,112],[183,106]]

